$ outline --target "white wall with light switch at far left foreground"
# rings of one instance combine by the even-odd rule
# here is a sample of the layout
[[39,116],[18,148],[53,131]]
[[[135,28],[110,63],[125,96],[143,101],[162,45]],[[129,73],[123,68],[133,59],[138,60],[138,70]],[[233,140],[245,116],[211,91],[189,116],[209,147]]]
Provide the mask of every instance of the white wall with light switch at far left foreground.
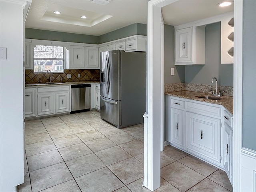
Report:
[[0,191],[14,192],[24,182],[21,4],[0,1],[0,47],[7,48],[0,60]]

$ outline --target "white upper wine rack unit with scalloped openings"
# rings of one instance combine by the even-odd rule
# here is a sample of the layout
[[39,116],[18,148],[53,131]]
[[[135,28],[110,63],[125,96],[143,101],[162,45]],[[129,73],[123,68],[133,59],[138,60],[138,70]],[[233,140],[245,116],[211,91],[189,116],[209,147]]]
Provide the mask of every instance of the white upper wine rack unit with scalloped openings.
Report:
[[221,19],[221,63],[234,63],[234,14]]

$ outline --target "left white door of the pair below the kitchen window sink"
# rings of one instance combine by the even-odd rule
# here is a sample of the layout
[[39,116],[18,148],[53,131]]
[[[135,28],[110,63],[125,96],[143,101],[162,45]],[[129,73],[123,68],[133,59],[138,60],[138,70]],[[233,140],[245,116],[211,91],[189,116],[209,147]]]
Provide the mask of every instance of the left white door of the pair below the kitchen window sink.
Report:
[[53,93],[38,93],[38,115],[53,113]]

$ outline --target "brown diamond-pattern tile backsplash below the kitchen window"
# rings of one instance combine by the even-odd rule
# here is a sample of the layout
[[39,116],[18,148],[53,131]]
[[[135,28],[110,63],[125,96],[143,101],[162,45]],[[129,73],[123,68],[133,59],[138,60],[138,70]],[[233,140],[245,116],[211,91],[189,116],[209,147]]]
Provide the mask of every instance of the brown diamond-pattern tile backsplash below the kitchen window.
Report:
[[[71,75],[71,78],[68,78],[68,74]],[[80,77],[78,78],[78,74]],[[100,80],[100,70],[88,70],[88,69],[66,69],[65,73],[52,73],[51,77],[54,79],[52,82],[73,82],[73,81],[92,81]],[[33,70],[25,70],[25,81],[26,84],[38,83],[38,82],[49,82],[50,74],[38,73],[34,74]]]

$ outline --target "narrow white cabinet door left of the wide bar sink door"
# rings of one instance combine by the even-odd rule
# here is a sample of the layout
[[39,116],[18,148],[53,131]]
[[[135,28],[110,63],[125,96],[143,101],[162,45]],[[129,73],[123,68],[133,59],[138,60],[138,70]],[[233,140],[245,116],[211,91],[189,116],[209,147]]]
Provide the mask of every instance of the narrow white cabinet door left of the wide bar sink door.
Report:
[[166,140],[184,146],[184,110],[171,108],[168,114]]

